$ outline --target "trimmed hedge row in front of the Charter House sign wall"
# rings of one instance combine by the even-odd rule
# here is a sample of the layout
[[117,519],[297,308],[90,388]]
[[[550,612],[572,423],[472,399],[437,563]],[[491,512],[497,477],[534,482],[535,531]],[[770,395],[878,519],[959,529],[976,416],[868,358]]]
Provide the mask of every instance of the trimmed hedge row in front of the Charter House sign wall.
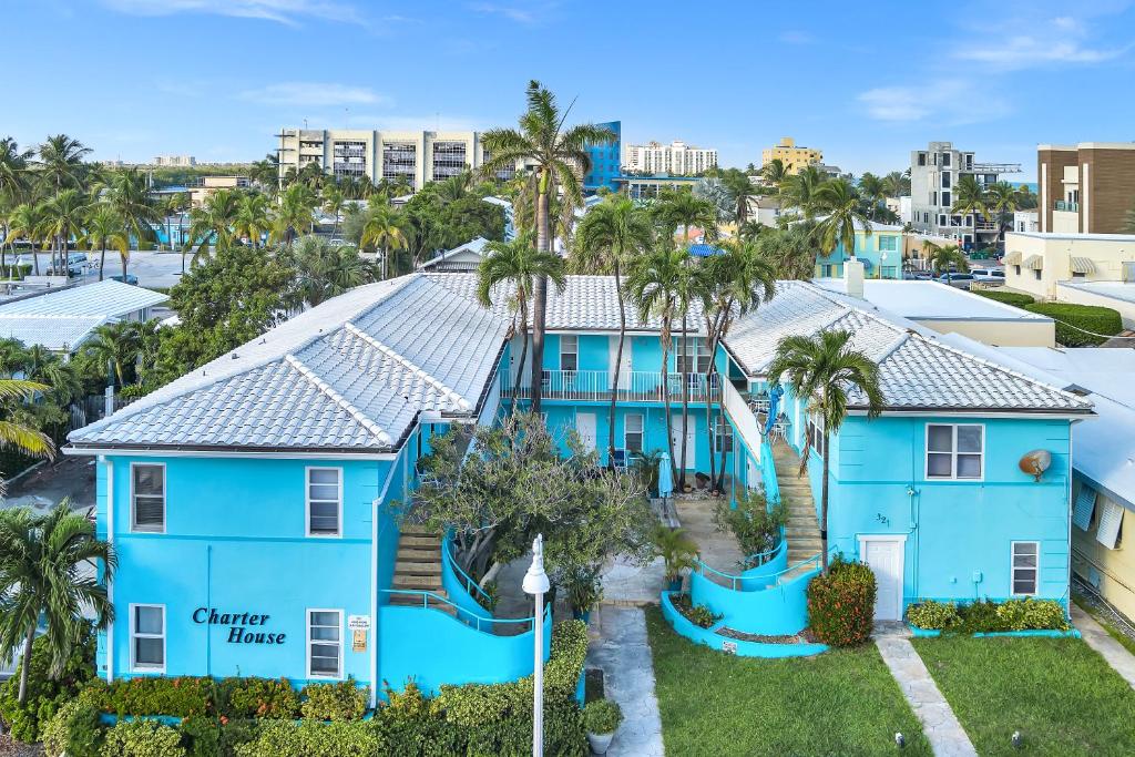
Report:
[[[575,701],[586,656],[587,626],[558,623],[545,666],[547,754],[586,754]],[[364,695],[353,681],[306,687],[300,695],[286,680],[270,679],[92,682],[48,722],[43,741],[48,757],[520,756],[531,751],[532,684],[528,676],[447,685],[430,699],[411,682],[404,691],[387,690],[375,717],[361,720]],[[102,713],[120,720],[107,727]],[[158,714],[184,720],[177,726],[125,720]],[[297,714],[304,720],[294,720]]]

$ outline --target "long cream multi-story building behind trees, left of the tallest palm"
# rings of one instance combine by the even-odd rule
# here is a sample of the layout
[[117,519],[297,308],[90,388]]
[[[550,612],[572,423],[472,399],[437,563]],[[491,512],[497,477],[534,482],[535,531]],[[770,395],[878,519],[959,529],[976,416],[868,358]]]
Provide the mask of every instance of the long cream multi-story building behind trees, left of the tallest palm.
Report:
[[[403,179],[417,192],[428,182],[480,168],[488,154],[478,132],[379,132],[362,129],[284,128],[277,155],[283,178],[308,163],[336,177]],[[515,170],[498,174],[511,178]]]

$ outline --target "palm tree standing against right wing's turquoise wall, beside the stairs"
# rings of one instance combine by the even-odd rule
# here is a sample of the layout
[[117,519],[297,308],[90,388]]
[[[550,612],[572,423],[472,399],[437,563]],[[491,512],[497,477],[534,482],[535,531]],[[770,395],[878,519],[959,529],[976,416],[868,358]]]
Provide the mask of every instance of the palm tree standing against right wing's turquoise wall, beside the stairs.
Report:
[[[776,345],[768,365],[768,381],[780,385],[787,379],[796,396],[808,403],[808,410],[821,419],[823,427],[824,471],[819,495],[821,565],[827,572],[827,489],[831,474],[829,439],[839,434],[848,414],[849,393],[867,398],[867,418],[883,412],[883,390],[878,385],[878,365],[864,353],[852,350],[850,331],[823,331],[816,336],[787,336]],[[800,474],[808,464],[808,451],[800,456]]]

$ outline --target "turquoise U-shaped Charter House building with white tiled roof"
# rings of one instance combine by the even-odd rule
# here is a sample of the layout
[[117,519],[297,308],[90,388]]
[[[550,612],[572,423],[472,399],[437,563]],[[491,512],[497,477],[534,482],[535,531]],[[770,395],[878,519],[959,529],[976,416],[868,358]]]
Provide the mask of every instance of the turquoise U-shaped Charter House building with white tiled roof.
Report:
[[[515,619],[520,633],[497,632],[513,620],[481,608],[447,545],[396,520],[434,435],[494,423],[531,394],[507,291],[482,309],[476,288],[476,275],[452,272],[352,289],[70,435],[68,454],[98,456],[98,528],[119,555],[118,612],[99,638],[103,676],[352,676],[377,698],[382,681],[436,691],[531,673],[531,619]],[[1067,603],[1071,422],[1091,413],[1083,398],[806,283],[782,283],[715,355],[691,312],[666,381],[659,323],[633,310],[630,321],[616,462],[666,447],[665,411],[679,407],[684,381],[689,421],[673,417],[681,468],[708,471],[715,451],[731,494],[791,496],[776,590],[741,598],[775,595],[791,611],[771,632],[794,632],[802,612],[802,583],[785,582],[807,578],[789,563],[818,548],[824,451],[791,388],[775,447],[753,409],[777,340],[830,328],[850,330],[878,363],[886,396],[869,421],[852,396],[826,451],[830,538],[875,570],[876,615],[900,617],[928,597]],[[617,329],[611,277],[573,276],[549,292],[543,411],[554,432],[574,430],[604,460]],[[711,360],[723,378],[707,385]],[[1036,448],[1053,460],[1039,480],[1017,466]],[[801,454],[807,481],[787,472]]]

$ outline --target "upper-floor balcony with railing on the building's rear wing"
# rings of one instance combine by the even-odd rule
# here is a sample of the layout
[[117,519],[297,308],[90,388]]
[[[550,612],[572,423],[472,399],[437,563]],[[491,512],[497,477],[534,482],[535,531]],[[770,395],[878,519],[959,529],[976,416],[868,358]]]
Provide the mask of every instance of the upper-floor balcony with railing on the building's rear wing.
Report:
[[[581,402],[611,401],[611,379],[608,371],[544,371],[544,399],[578,399]],[[619,375],[619,389],[615,399],[619,402],[681,402],[682,375],[671,373],[665,385],[659,371],[623,371]],[[687,398],[690,402],[706,402],[709,396],[714,402],[721,399],[721,387],[715,377],[711,392],[706,392],[704,373],[686,373]],[[507,372],[501,376],[501,396],[513,399],[530,399],[532,397],[531,376],[524,371],[519,386]]]

